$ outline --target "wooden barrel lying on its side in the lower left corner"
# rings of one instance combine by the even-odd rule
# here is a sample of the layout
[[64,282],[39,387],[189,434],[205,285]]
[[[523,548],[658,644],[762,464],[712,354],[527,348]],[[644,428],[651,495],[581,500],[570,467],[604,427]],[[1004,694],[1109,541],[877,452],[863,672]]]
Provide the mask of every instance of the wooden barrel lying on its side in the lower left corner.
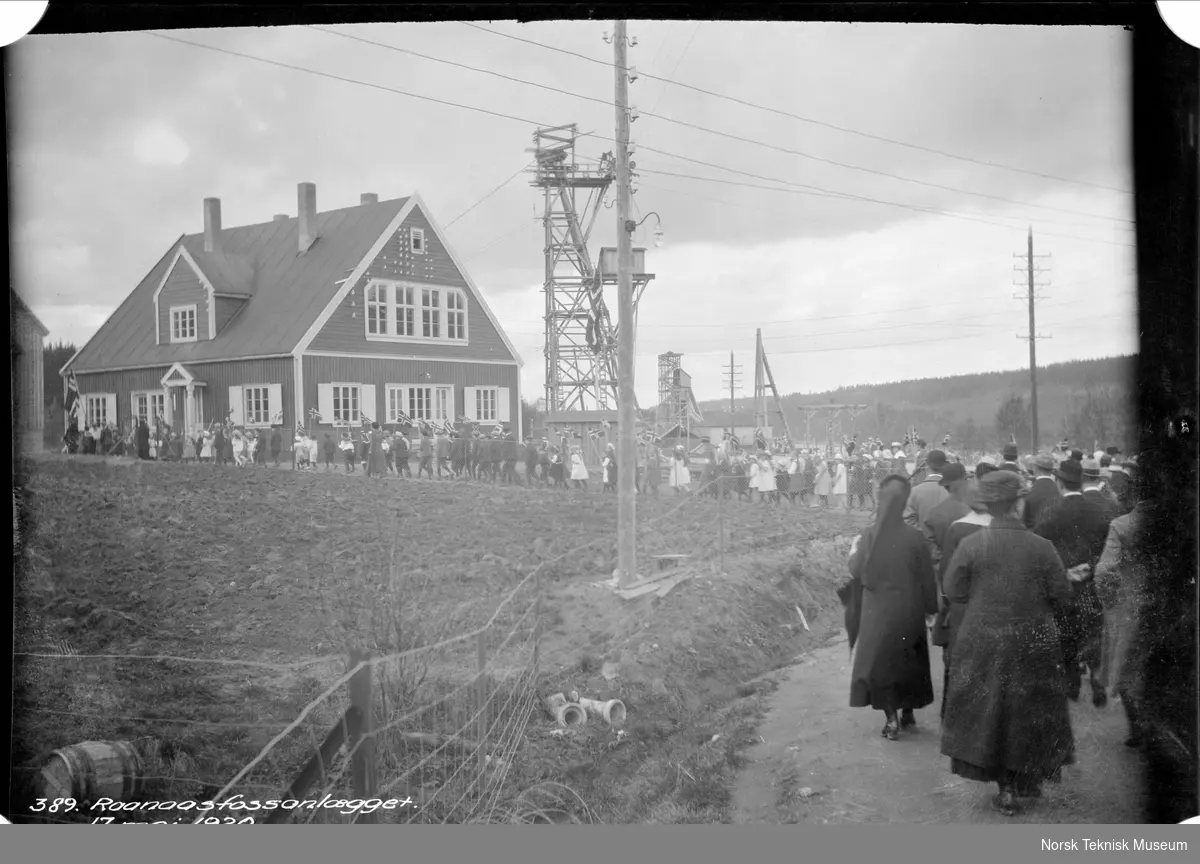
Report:
[[42,766],[43,798],[136,800],[142,794],[142,756],[128,742],[83,742],[55,750]]

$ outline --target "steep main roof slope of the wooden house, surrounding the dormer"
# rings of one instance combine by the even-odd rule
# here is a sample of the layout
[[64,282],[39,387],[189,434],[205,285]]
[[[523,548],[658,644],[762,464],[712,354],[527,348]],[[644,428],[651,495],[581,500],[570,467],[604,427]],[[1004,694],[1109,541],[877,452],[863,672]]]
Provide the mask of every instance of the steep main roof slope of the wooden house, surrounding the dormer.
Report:
[[[299,220],[263,222],[221,232],[221,251],[205,252],[203,234],[187,234],[167,250],[137,288],[70,361],[77,372],[122,366],[289,354],[325,308],[341,280],[359,265],[408,203],[317,214],[317,242],[299,254]],[[154,293],[182,245],[220,293],[252,300],[236,324],[214,340],[155,344]]]

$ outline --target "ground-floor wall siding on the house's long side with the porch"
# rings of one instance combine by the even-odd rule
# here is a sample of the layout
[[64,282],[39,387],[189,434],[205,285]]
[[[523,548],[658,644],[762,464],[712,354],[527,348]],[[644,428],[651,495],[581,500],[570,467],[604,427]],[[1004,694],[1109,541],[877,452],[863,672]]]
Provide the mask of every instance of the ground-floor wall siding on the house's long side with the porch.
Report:
[[[295,380],[292,360],[236,360],[233,362],[185,364],[187,371],[205,383],[203,389],[204,422],[221,421],[229,410],[229,388],[244,384],[280,384],[283,389],[283,426],[295,424],[293,408]],[[162,390],[162,378],[170,366],[124,372],[80,372],[77,376],[80,395],[116,394],[116,421],[125,428],[132,421],[130,397],[140,390]],[[176,406],[180,410],[181,406]],[[271,412],[278,410],[271,406]],[[290,440],[289,434],[284,434]]]

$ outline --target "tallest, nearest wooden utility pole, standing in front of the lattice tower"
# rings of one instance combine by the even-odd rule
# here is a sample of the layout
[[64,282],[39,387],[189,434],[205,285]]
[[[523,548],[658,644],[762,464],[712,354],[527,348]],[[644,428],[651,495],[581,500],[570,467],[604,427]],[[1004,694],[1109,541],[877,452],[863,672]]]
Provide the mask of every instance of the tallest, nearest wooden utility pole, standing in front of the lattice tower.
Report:
[[618,584],[637,581],[637,439],[634,428],[634,248],[630,220],[629,64],[625,22],[613,25],[613,72],[617,76],[617,568]]

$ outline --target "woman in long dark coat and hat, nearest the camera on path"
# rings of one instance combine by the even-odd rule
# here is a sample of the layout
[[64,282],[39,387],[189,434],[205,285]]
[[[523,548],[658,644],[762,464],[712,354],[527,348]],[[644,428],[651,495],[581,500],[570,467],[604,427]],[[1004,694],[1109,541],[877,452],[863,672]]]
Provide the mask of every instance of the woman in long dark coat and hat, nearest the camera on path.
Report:
[[995,782],[1006,815],[1074,760],[1067,677],[1055,610],[1070,586],[1054,544],[1018,515],[1021,479],[989,472],[977,500],[992,521],[962,540],[946,568],[950,602],[966,602],[954,638],[942,754],[950,770]]

